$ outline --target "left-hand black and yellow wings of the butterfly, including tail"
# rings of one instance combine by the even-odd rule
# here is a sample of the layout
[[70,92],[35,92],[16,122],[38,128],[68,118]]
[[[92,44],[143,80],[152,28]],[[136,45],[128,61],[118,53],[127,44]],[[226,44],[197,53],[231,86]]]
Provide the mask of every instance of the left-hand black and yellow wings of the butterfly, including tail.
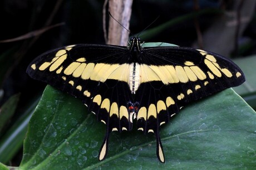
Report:
[[107,125],[99,159],[106,157],[111,131],[132,128],[127,109],[132,101],[127,84],[130,69],[125,63],[129,55],[126,47],[115,45],[70,45],[38,56],[27,68],[33,79],[80,98]]

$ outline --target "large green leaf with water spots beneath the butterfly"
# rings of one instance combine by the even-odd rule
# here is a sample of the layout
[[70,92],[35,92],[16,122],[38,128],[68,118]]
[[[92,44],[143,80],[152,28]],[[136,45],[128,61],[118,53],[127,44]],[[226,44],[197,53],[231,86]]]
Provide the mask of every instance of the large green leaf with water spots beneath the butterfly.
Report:
[[109,154],[97,156],[105,125],[75,97],[47,86],[28,125],[20,169],[253,168],[256,114],[232,89],[181,110],[161,128],[166,163],[154,135],[111,133]]

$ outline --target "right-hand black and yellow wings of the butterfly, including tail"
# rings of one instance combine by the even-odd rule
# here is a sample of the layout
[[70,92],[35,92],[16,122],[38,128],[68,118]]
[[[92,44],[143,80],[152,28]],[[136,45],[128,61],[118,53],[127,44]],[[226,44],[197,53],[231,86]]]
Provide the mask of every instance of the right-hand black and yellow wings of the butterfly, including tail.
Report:
[[245,81],[231,60],[204,50],[183,47],[144,48],[141,52],[141,84],[137,128],[154,132],[157,157],[164,162],[160,125],[169,122],[189,102]]

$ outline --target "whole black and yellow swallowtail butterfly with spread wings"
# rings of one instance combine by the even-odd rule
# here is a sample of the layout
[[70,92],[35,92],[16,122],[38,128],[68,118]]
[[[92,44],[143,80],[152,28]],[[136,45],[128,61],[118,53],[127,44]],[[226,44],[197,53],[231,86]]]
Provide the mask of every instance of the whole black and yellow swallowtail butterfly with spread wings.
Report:
[[82,100],[107,125],[99,160],[106,158],[111,131],[153,132],[156,154],[165,162],[160,126],[181,107],[245,81],[231,60],[186,47],[69,45],[38,56],[27,68],[33,78]]

